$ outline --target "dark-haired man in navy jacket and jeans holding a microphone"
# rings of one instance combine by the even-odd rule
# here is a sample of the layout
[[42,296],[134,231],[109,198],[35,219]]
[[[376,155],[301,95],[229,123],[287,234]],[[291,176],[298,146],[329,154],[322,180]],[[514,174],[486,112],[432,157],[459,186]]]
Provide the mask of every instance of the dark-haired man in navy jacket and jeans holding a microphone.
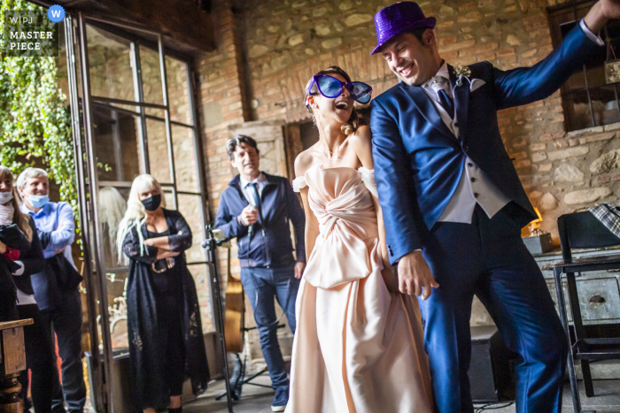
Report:
[[[271,385],[273,411],[283,411],[289,400],[289,379],[277,341],[274,298],[295,333],[295,300],[306,266],[306,218],[286,178],[260,172],[259,149],[249,136],[227,143],[227,152],[239,172],[221,194],[215,226],[236,238],[241,283],[252,305]],[[296,256],[291,242],[295,230]]]

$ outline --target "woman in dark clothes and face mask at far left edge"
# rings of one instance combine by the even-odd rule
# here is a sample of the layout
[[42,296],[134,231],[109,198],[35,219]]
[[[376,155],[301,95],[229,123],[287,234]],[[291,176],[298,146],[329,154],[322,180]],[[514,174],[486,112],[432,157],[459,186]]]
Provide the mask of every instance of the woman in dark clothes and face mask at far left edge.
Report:
[[[54,355],[50,331],[41,320],[36,305],[35,292],[30,276],[43,271],[43,249],[36,233],[32,218],[19,211],[17,193],[13,188],[13,174],[10,169],[0,165],[0,274],[10,268],[12,292],[7,294],[3,279],[0,287],[0,307],[15,303],[17,314],[12,319],[32,318],[32,325],[24,326],[24,345],[27,369],[32,371],[32,400],[37,412],[51,412],[52,387],[54,378]],[[1,275],[0,275],[1,277]],[[13,284],[14,283],[14,284]],[[12,295],[12,297],[11,297]],[[2,315],[4,317],[4,314]],[[19,377],[22,384],[22,399],[27,401],[27,371]],[[27,411],[28,409],[25,409]]]

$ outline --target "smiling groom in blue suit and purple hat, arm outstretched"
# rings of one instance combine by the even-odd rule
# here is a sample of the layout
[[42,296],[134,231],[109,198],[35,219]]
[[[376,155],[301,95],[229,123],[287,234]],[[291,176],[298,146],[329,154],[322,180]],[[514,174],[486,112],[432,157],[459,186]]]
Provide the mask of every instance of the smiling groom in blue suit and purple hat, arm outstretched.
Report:
[[[370,127],[388,254],[403,293],[422,295],[436,410],[473,412],[469,317],[474,294],[516,366],[517,412],[559,412],[567,343],[546,282],[523,246],[536,214],[501,141],[497,111],[544,99],[603,45],[620,0],[600,0],[548,57],[502,71],[454,68],[413,2],[375,17],[377,43],[402,80],[372,103]],[[432,287],[432,289],[431,289]]]

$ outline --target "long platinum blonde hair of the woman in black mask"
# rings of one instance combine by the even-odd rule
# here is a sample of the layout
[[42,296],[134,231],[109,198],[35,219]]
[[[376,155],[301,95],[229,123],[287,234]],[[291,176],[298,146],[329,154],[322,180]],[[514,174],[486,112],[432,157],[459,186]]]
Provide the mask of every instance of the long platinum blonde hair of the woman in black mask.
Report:
[[140,240],[140,252],[143,253],[144,239],[142,234],[142,226],[146,220],[146,209],[144,209],[144,205],[142,201],[140,201],[140,194],[143,192],[152,191],[153,189],[159,190],[159,194],[161,195],[161,207],[165,208],[166,197],[164,196],[164,191],[161,190],[161,185],[159,185],[158,180],[153,178],[151,175],[148,173],[138,175],[131,184],[131,189],[129,190],[127,200],[127,210],[125,211],[125,216],[120,220],[119,231],[116,238],[116,247],[119,253],[119,264],[128,263],[127,256],[123,254],[123,241],[125,241],[125,236],[132,226],[137,227],[138,238]]

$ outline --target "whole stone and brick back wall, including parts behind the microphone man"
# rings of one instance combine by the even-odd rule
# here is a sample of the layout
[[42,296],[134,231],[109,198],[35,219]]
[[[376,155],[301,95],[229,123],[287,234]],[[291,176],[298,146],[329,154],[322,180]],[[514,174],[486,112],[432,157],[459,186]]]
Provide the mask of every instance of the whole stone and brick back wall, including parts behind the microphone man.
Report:
[[[310,121],[303,104],[307,80],[339,65],[368,82],[375,96],[397,83],[376,45],[373,17],[391,0],[219,0],[212,14],[217,50],[198,59],[199,107],[210,210],[236,175],[224,144],[230,128],[249,121],[283,121],[287,162],[303,147]],[[238,3],[238,4],[237,4]],[[553,49],[546,7],[556,0],[438,0],[420,2],[436,16],[439,50],[448,63],[488,60],[500,69],[533,65]],[[618,125],[566,134],[559,92],[527,106],[500,111],[502,137],[523,186],[539,207],[542,228],[554,235],[555,219],[620,195]],[[255,122],[252,122],[254,124]],[[299,126],[302,126],[301,128]],[[601,158],[602,157],[602,158]],[[289,179],[294,178],[289,167]],[[221,251],[220,268],[226,268]],[[238,273],[233,249],[233,273]],[[221,286],[226,287],[225,271]],[[246,326],[253,325],[246,301]],[[477,311],[483,317],[483,311]],[[472,318],[474,322],[479,322]],[[483,320],[487,322],[488,320]],[[291,334],[279,331],[284,354]],[[261,359],[258,334],[249,336],[251,359]]]

